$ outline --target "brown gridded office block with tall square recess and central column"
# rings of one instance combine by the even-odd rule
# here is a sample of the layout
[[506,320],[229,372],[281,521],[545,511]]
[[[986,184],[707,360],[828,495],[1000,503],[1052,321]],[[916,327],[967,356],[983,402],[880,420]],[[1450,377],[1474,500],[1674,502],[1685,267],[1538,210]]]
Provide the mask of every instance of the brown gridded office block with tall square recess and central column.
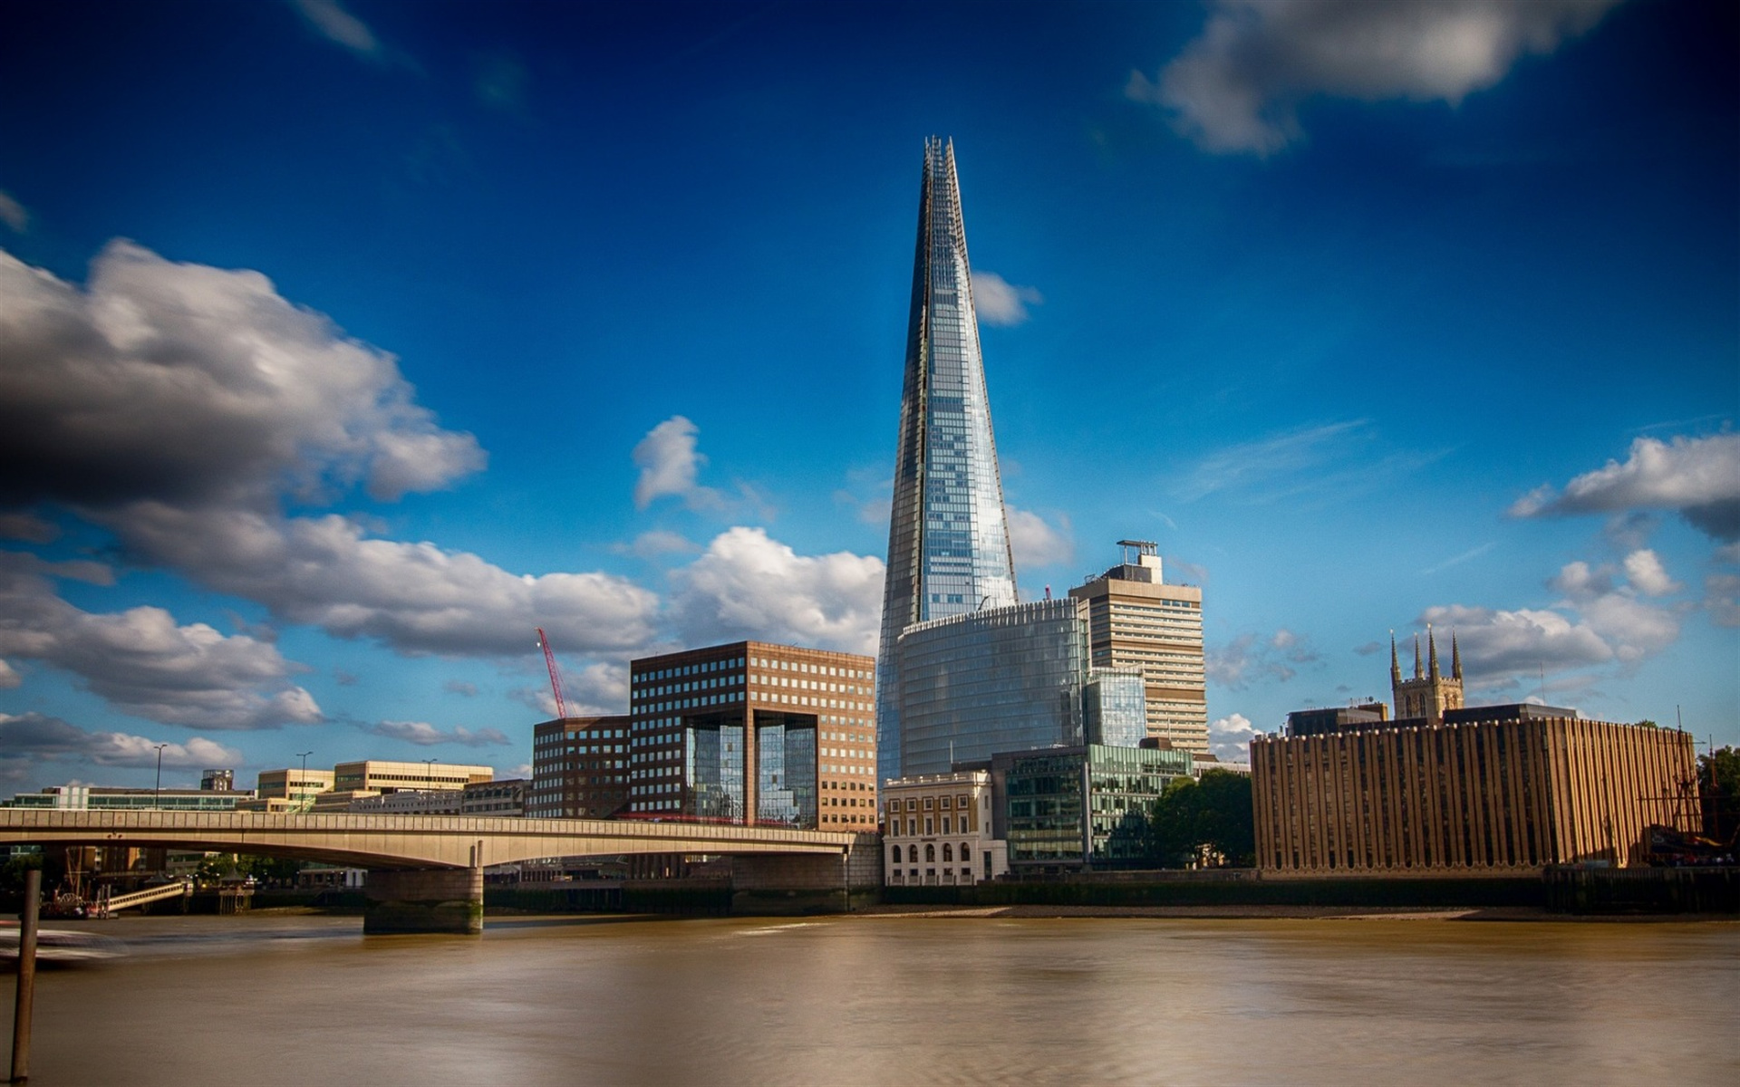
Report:
[[628,817],[872,831],[875,661],[731,642],[630,664]]

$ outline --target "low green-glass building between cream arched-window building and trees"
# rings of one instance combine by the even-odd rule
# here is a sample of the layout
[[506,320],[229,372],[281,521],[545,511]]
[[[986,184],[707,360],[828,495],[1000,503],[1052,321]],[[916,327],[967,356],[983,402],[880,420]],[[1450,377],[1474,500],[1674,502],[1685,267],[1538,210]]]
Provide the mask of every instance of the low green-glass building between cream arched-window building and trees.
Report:
[[1009,870],[1138,868],[1148,863],[1148,812],[1190,776],[1190,753],[1084,744],[992,760],[995,835]]

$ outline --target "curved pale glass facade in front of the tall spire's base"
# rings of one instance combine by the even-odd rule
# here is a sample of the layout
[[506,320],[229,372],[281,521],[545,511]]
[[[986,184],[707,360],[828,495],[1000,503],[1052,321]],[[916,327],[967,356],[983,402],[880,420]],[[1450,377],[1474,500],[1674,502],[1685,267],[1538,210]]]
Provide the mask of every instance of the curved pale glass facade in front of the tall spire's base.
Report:
[[901,776],[1079,744],[1088,626],[1074,600],[920,623],[898,642]]

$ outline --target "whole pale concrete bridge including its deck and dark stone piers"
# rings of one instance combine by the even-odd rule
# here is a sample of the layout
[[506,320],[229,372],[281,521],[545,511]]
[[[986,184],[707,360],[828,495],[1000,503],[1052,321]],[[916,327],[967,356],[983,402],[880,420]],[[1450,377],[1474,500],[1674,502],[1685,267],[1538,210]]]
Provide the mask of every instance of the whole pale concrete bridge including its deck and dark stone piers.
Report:
[[0,809],[0,845],[186,849],[367,868],[364,932],[482,932],[484,868],[538,857],[731,856],[748,861],[752,878],[793,889],[880,878],[870,835],[713,823]]

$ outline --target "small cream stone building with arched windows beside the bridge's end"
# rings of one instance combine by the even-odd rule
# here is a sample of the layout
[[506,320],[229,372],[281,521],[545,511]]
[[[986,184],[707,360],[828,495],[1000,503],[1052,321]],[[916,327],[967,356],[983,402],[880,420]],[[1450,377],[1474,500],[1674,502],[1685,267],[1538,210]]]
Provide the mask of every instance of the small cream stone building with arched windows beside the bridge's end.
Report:
[[889,887],[978,884],[1009,870],[1004,842],[992,835],[988,770],[887,781],[882,812]]

